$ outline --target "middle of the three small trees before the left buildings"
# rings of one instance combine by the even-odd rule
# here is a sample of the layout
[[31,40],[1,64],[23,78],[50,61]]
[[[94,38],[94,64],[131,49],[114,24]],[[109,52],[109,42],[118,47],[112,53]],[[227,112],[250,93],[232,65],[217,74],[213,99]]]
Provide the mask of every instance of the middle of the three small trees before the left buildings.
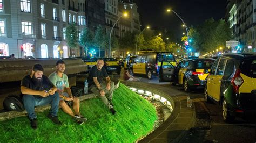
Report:
[[89,30],[89,28],[85,27],[82,33],[82,36],[80,38],[80,45],[84,47],[85,55],[88,54],[88,48],[89,46],[92,46],[93,44],[93,35],[92,32]]

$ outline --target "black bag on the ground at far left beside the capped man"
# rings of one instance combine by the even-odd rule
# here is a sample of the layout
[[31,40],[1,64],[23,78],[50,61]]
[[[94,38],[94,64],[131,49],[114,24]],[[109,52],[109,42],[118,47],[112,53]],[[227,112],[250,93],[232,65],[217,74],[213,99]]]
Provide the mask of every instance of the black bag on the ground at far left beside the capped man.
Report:
[[11,95],[4,99],[3,106],[5,110],[22,112],[25,110],[22,99]]

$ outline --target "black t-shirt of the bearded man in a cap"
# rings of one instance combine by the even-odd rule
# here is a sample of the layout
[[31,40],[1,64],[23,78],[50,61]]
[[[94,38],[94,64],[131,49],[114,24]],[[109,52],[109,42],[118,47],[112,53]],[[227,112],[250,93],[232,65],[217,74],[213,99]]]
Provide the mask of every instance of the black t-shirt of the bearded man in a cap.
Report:
[[33,90],[37,90],[37,91],[43,91],[43,90],[48,91],[50,88],[54,86],[47,76],[43,75],[42,78],[43,78],[42,84],[35,85],[33,84],[32,78],[30,77],[30,75],[26,75],[22,78],[21,86],[27,87]]

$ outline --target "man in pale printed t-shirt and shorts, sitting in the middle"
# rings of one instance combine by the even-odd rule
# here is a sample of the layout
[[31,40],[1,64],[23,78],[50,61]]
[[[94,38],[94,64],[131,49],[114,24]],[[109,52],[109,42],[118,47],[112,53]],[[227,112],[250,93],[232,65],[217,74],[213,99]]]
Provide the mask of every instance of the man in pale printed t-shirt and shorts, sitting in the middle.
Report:
[[[87,119],[80,115],[79,111],[79,99],[73,97],[71,89],[69,87],[69,79],[65,71],[65,62],[63,60],[58,60],[56,62],[56,71],[49,75],[49,80],[57,87],[57,92],[59,93],[59,105],[62,110],[67,113],[68,115],[72,116],[73,119],[78,121],[78,124],[83,124]],[[64,91],[66,89],[66,92]],[[66,102],[73,103],[73,110],[66,104]]]

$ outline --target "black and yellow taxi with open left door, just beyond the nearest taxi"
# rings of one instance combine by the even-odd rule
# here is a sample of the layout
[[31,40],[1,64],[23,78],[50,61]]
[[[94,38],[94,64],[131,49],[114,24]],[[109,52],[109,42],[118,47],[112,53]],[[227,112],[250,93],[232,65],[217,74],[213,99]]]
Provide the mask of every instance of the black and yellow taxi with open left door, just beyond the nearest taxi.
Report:
[[[215,59],[185,59],[174,66],[160,66],[159,82],[171,81],[172,85],[183,85],[186,92],[205,87],[205,78]],[[173,68],[173,69],[172,69]],[[172,73],[170,73],[170,71]],[[169,77],[169,78],[168,78]]]

